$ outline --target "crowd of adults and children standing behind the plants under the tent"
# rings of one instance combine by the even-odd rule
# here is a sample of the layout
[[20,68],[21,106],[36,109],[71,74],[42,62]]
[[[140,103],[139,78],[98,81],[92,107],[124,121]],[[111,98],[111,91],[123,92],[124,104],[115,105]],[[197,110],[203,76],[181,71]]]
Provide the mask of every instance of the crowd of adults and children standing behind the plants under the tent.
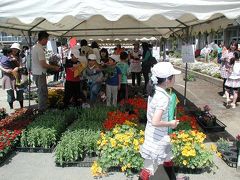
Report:
[[28,85],[25,83],[28,71],[37,86],[39,111],[47,109],[48,73],[54,75],[54,81],[64,80],[64,107],[89,107],[97,101],[105,102],[107,106],[117,106],[122,99],[128,98],[129,76],[132,79],[131,86],[140,89],[143,74],[143,94],[147,93],[150,69],[156,63],[151,45],[147,42],[135,42],[131,50],[117,45],[110,54],[108,49],[100,48],[97,42],[89,46],[82,39],[74,45],[61,45],[57,48],[57,54],[46,57],[48,39],[46,31],[39,32],[38,41],[31,49],[31,62],[27,58],[28,47],[21,48],[19,43],[13,43],[11,47],[3,48],[0,59],[2,87],[7,92],[11,109],[15,100],[19,101],[21,108],[24,106],[23,92]]

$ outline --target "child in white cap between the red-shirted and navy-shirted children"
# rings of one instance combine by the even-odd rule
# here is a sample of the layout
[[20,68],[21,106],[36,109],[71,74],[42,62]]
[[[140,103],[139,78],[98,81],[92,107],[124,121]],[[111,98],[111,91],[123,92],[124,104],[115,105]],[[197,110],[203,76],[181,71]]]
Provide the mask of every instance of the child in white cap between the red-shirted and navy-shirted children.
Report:
[[102,70],[99,68],[95,54],[89,54],[88,66],[85,72],[90,85],[90,102],[94,103],[100,91],[103,78]]

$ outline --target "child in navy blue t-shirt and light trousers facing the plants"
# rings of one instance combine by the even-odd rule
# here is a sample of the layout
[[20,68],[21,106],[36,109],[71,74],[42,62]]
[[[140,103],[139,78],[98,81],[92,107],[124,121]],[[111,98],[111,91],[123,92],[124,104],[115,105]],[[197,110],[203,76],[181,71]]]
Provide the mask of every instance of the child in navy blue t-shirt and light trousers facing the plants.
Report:
[[117,94],[121,85],[121,70],[116,66],[118,60],[118,55],[110,56],[107,67],[104,69],[106,77],[107,106],[117,106]]

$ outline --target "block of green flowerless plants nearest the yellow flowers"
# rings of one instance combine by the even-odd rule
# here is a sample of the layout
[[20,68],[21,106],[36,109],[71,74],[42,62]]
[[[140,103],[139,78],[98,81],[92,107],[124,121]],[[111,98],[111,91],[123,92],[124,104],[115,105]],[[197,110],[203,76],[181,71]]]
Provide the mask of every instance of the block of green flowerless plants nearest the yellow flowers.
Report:
[[58,143],[55,161],[62,165],[63,162],[80,160],[86,153],[96,152],[103,121],[107,118],[107,112],[112,109],[106,106],[82,109],[77,120],[68,127]]

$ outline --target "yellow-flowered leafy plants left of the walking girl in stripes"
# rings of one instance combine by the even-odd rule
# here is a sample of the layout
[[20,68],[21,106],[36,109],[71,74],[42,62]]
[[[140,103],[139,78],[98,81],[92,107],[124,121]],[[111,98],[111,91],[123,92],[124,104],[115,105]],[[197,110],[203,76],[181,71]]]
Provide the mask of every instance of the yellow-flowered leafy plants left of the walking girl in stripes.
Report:
[[139,171],[143,167],[143,158],[139,153],[143,141],[144,131],[131,121],[102,132],[97,142],[99,158],[91,168],[92,174],[100,176],[116,167],[127,175],[132,170]]

